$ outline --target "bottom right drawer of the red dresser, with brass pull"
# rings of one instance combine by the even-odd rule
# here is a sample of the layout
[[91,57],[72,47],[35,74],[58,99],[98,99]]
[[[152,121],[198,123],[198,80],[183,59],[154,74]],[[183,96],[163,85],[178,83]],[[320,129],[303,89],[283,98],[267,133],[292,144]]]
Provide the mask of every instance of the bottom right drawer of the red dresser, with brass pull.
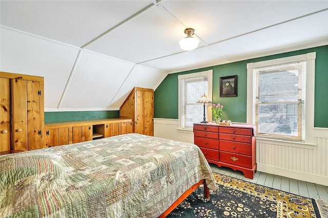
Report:
[[220,151],[220,161],[237,166],[252,168],[252,157]]

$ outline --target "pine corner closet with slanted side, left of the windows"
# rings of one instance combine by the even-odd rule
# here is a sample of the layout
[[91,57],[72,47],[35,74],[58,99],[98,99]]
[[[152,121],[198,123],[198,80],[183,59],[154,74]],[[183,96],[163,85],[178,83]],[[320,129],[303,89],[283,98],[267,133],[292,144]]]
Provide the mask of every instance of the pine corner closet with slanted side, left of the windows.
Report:
[[119,108],[120,118],[132,119],[132,132],[154,135],[154,90],[134,87]]

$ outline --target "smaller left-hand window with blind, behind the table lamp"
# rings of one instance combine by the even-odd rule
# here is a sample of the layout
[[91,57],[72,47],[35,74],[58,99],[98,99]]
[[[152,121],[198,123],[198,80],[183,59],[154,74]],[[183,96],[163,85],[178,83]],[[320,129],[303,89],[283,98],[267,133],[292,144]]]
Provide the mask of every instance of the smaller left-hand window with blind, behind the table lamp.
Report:
[[[196,102],[204,93],[212,95],[212,70],[179,75],[179,127],[192,129],[194,123],[203,120],[203,104]],[[211,99],[211,96],[209,96]],[[207,120],[212,119],[210,108],[206,105]]]

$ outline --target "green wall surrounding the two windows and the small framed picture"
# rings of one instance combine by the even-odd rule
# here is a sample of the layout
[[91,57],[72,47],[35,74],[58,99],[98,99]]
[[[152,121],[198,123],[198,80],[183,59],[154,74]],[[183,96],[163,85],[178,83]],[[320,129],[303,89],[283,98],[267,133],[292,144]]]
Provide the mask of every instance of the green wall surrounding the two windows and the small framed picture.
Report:
[[[327,128],[328,45],[169,74],[155,90],[154,117],[178,118],[178,75],[213,69],[212,101],[213,103],[220,103],[224,106],[224,115],[222,119],[245,123],[247,104],[247,63],[301,55],[310,52],[316,52],[314,126]],[[220,98],[219,78],[232,75],[238,76],[238,96]]]

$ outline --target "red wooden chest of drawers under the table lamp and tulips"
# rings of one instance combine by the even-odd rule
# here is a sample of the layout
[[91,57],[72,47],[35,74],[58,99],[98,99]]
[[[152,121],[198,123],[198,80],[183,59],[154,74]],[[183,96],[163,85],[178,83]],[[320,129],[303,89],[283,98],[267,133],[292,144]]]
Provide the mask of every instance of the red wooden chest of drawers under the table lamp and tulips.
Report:
[[194,124],[194,143],[209,163],[241,171],[250,179],[256,172],[255,140],[253,125]]

